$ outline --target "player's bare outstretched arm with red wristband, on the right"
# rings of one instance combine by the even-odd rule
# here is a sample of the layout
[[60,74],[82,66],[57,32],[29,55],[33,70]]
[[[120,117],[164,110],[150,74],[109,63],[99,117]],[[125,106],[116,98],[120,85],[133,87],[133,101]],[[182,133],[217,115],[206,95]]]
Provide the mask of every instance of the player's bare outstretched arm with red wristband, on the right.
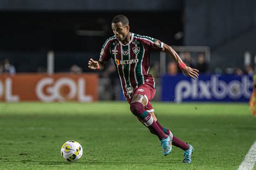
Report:
[[186,64],[181,60],[177,52],[174,51],[171,46],[164,44],[163,49],[161,51],[164,51],[165,53],[167,53],[167,55],[171,56],[176,61],[176,63],[186,76],[189,76],[193,79],[198,78],[199,71],[197,69],[193,69],[191,67],[186,66]]

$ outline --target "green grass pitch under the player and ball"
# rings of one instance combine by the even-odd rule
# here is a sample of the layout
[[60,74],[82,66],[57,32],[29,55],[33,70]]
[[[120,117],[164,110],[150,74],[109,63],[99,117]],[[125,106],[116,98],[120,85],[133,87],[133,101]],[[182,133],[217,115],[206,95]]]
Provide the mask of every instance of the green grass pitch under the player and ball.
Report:
[[[125,102],[0,103],[0,169],[237,169],[256,140],[247,104],[153,106],[161,124],[193,145],[192,164],[174,146],[164,157]],[[74,164],[60,156],[67,140],[84,149]]]

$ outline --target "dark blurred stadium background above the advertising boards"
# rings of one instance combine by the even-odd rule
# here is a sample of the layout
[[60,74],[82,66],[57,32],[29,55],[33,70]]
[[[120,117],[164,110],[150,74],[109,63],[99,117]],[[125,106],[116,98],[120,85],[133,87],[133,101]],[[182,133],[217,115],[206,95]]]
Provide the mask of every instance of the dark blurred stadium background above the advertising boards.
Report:
[[[78,63],[66,56],[81,54],[86,60],[98,53],[112,36],[110,22],[123,13],[131,31],[156,37],[170,45],[208,46],[210,71],[215,67],[243,68],[246,50],[255,55],[255,1],[0,1],[0,59],[8,58],[17,72],[35,72],[45,67],[49,50],[64,52],[66,63]],[[77,30],[103,31],[102,36],[78,36]],[[181,32],[183,36],[174,37]],[[56,57],[55,71],[69,71],[70,65]],[[29,63],[27,62],[29,60]],[[252,63],[253,65],[253,63]]]

